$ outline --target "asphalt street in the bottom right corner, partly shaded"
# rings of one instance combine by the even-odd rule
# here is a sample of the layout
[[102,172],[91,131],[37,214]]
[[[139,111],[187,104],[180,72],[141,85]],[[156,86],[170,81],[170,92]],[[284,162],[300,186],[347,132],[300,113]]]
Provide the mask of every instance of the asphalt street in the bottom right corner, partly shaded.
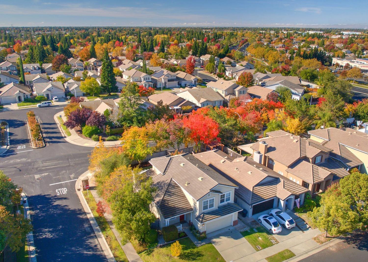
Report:
[[302,262],[346,262],[368,261],[368,233],[356,234],[343,242],[332,245]]

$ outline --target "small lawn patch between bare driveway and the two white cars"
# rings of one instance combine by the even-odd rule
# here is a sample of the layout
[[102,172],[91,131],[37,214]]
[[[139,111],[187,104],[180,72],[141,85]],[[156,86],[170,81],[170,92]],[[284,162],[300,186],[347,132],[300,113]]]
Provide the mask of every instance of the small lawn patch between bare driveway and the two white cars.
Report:
[[[249,242],[249,244],[252,245],[252,247],[255,249],[255,251],[259,251],[265,248],[268,248],[272,245],[274,245],[271,240],[275,240],[277,243],[277,240],[275,237],[273,237],[264,227],[256,227],[256,231],[254,231],[253,228],[251,228],[249,231],[242,231],[240,232],[243,237]],[[259,237],[261,239],[259,239]],[[261,247],[261,249],[258,249],[257,246]]]

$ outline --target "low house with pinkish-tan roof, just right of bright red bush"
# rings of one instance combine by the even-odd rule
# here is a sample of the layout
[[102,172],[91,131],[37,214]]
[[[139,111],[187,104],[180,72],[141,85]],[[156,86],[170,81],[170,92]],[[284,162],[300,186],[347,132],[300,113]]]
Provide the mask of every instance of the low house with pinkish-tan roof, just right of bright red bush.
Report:
[[157,105],[159,101],[162,101],[163,105],[170,106],[172,109],[178,111],[178,113],[180,113],[181,107],[183,106],[191,106],[193,109],[195,107],[194,103],[170,92],[155,93],[148,96],[147,100],[153,105]]

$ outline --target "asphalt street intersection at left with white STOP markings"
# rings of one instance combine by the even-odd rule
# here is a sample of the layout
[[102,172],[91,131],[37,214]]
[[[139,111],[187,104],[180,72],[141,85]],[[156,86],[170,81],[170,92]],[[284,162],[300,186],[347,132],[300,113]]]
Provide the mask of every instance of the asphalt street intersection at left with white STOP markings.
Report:
[[[46,147],[33,149],[25,124],[35,111]],[[9,123],[10,148],[0,169],[28,195],[36,255],[43,261],[106,261],[82,205],[75,181],[88,169],[92,148],[65,141],[54,121],[60,106],[3,111]]]

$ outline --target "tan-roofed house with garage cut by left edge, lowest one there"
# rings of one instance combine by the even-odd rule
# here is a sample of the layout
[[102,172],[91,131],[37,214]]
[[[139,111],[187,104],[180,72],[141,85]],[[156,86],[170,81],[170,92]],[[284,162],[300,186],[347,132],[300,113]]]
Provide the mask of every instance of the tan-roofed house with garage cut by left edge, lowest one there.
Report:
[[28,86],[11,82],[0,88],[0,104],[23,102],[31,97],[31,90]]

